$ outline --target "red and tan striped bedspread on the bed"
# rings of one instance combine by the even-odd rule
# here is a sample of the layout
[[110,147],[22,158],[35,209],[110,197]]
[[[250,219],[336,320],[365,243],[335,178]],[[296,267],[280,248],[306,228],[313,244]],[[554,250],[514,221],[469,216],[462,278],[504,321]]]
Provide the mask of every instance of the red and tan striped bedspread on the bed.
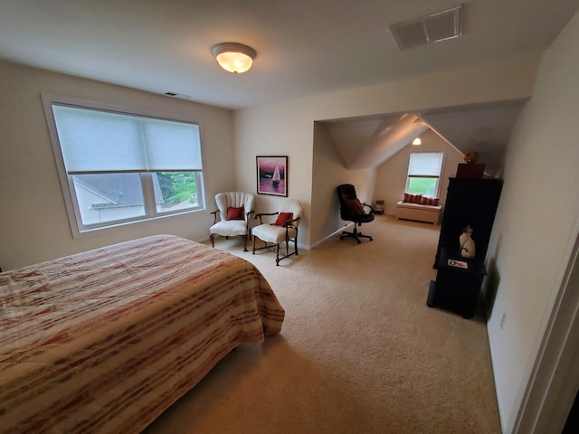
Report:
[[170,235],[0,273],[0,432],[139,432],[283,318],[252,264]]

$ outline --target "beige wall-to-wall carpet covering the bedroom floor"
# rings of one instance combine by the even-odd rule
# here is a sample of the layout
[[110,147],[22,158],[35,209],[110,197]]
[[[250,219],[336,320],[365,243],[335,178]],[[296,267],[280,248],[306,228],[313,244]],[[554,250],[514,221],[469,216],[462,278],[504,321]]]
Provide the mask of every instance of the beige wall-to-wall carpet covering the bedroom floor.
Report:
[[254,263],[286,310],[281,335],[242,345],[145,432],[500,432],[481,313],[426,306],[439,227],[378,216],[375,241],[335,236],[275,266]]

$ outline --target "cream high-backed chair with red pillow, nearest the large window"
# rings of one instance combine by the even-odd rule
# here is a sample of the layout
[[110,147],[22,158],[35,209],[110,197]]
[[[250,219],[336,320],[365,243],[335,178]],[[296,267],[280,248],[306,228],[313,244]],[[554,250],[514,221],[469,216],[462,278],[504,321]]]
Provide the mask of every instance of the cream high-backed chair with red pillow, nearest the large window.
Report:
[[[252,193],[225,192],[215,194],[217,210],[212,212],[214,225],[209,229],[211,233],[211,245],[215,247],[215,235],[225,238],[240,236],[243,237],[243,251],[247,251],[247,241],[252,237],[252,226],[250,215],[253,211],[255,196]],[[230,208],[243,207],[242,219],[228,219]]]

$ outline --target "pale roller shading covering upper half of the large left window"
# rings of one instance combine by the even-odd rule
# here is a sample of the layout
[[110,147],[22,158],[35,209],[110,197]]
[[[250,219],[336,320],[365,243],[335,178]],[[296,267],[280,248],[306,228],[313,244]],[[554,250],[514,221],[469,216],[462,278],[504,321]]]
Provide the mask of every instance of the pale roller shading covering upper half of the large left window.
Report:
[[69,174],[202,169],[195,124],[52,105]]

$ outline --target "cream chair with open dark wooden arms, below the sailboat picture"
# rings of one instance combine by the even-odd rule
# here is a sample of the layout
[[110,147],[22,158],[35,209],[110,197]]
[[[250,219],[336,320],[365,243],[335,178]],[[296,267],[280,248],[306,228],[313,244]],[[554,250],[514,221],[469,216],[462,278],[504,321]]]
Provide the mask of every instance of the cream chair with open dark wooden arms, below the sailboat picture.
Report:
[[[282,214],[291,212],[289,220],[281,219]],[[278,216],[275,221],[271,217],[271,223],[264,223],[264,216]],[[298,226],[301,217],[301,203],[297,199],[285,199],[280,203],[278,212],[255,214],[256,219],[260,219],[260,224],[252,229],[253,235],[253,254],[255,250],[271,249],[273,245],[276,248],[275,265],[280,265],[281,259],[289,258],[291,255],[298,255]],[[263,241],[264,246],[256,247],[256,240]],[[293,251],[289,252],[289,242],[293,242]],[[286,254],[280,257],[280,244],[285,243]],[[271,245],[273,244],[273,245]]]

